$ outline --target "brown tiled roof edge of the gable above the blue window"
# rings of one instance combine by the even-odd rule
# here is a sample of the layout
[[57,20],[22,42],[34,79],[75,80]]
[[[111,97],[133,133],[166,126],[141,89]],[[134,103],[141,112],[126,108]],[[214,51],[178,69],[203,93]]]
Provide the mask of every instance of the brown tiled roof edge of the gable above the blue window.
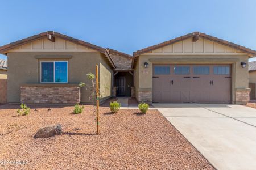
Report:
[[102,48],[102,47],[97,46],[97,45],[90,44],[89,42],[85,42],[85,41],[82,41],[82,40],[79,40],[79,39],[74,39],[73,37],[69,37],[67,35],[63,35],[59,32],[55,32],[55,31],[42,32],[42,33],[39,33],[37,35],[27,37],[26,39],[22,39],[22,40],[15,41],[15,42],[12,42],[12,43],[7,44],[7,45],[0,46],[0,53],[1,54],[6,54],[9,49],[13,49],[16,46],[27,44],[28,42],[31,42],[31,41],[42,39],[44,37],[47,37],[48,35],[51,35],[53,37],[55,37],[55,36],[60,37],[61,39],[71,41],[73,43],[76,43],[76,44],[79,44],[79,45],[82,45],[82,46],[86,46],[90,49],[97,50],[98,52],[100,52],[102,54],[105,54],[105,56],[109,59],[110,64],[115,68],[115,64],[114,64],[112,58],[109,56],[109,54],[108,54],[108,52],[106,51],[105,48]]

